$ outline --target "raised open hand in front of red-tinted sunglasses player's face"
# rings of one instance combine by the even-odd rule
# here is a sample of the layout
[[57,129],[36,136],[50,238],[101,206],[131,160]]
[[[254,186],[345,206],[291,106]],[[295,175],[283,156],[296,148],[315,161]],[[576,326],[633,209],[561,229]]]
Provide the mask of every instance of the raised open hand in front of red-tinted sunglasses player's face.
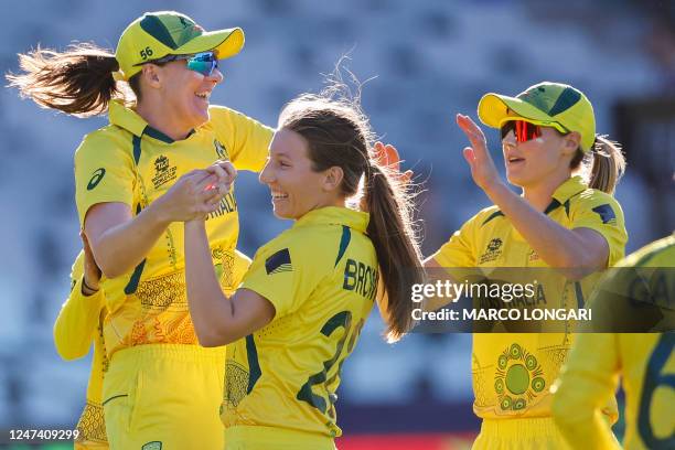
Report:
[[471,142],[471,147],[465,147],[463,150],[464,159],[471,168],[471,176],[475,184],[488,193],[493,186],[501,184],[502,180],[488,151],[485,135],[469,116],[458,114],[457,125]]

